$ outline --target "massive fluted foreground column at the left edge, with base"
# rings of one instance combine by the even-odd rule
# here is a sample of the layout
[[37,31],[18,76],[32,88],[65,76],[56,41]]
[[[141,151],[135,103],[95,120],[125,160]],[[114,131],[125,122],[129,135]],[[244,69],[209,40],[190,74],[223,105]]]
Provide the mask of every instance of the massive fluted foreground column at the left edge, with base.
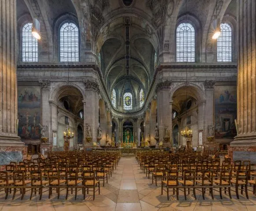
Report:
[[[1,0],[0,14],[0,154],[10,154],[1,151],[26,154],[24,143],[17,135],[16,0]],[[22,153],[19,153],[20,161]],[[7,164],[4,157],[0,159],[1,164]]]

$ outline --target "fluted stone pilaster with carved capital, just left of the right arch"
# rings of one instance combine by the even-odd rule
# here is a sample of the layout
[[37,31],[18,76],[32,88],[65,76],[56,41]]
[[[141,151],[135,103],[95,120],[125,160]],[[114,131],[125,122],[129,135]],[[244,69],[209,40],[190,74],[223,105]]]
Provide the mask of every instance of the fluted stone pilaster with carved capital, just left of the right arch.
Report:
[[[165,127],[168,127],[169,131],[171,131],[170,91],[171,80],[161,81],[156,85],[159,142],[164,142],[163,138],[165,135]],[[171,142],[167,143],[166,145],[170,147]]]

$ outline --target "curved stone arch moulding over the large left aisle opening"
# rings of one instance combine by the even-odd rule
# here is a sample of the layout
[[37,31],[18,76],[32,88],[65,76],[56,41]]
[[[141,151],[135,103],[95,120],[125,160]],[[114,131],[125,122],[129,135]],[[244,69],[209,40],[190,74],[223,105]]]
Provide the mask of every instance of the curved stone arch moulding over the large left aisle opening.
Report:
[[83,100],[86,99],[85,96],[85,91],[84,88],[81,87],[81,84],[74,84],[72,82],[70,82],[69,84],[67,84],[67,82],[62,82],[59,84],[56,84],[56,86],[52,87],[52,89],[50,90],[50,95],[49,95],[49,101],[55,101],[57,102],[58,97],[59,97],[59,92],[64,89],[64,88],[70,88],[73,87],[75,89],[77,89],[83,96]]

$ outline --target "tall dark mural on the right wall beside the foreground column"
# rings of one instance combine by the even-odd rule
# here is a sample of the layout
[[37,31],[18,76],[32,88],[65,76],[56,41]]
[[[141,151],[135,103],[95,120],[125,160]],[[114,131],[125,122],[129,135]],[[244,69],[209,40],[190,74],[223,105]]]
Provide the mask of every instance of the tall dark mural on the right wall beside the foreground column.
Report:
[[237,135],[236,86],[215,86],[215,139],[233,139]]

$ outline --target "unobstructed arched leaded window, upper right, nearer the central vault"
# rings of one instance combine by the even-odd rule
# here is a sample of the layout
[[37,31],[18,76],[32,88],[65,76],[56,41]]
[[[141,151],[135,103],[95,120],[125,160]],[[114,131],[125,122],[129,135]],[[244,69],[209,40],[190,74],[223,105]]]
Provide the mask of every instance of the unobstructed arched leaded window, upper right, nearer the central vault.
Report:
[[190,23],[176,29],[176,62],[195,62],[195,29]]

